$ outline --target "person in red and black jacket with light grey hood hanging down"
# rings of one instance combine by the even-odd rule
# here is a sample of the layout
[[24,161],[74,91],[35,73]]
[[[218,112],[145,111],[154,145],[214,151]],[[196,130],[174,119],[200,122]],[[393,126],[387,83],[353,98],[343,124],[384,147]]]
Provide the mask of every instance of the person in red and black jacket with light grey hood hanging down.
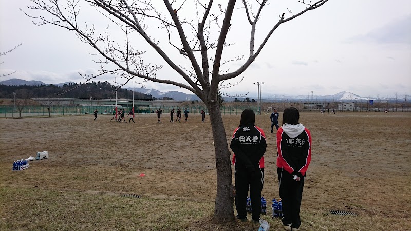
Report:
[[298,230],[301,225],[304,179],[311,162],[311,133],[298,119],[296,108],[285,109],[283,126],[277,131],[277,173],[285,230]]

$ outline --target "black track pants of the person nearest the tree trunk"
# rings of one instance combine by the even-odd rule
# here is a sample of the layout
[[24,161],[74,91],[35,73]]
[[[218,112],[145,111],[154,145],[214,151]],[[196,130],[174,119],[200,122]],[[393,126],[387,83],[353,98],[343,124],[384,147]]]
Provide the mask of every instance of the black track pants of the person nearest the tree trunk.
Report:
[[264,168],[255,170],[251,176],[246,169],[235,168],[235,207],[240,218],[247,217],[247,196],[250,189],[251,216],[259,220],[261,213],[261,191],[264,185]]

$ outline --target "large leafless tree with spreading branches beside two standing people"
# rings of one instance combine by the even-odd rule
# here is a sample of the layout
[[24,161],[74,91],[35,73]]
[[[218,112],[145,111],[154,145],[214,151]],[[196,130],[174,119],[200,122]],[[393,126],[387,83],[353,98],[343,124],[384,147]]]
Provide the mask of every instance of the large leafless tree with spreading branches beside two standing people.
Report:
[[[306,3],[305,0],[298,1],[302,4],[302,10],[294,14],[287,9],[288,12],[279,15],[278,21],[272,22],[271,26],[267,28],[267,34],[263,36],[259,44],[255,44],[255,28],[260,13],[267,6],[268,1],[256,0],[256,4],[242,1],[239,3],[242,6],[237,7],[237,9],[245,9],[245,16],[251,24],[249,55],[248,57],[236,56],[228,60],[223,59],[223,48],[234,45],[227,42],[226,37],[232,27],[231,17],[236,9],[235,0],[223,1],[226,3],[225,7],[221,4],[213,4],[213,0],[164,0],[162,10],[166,11],[165,13],[161,12],[159,1],[31,1],[34,6],[28,7],[29,9],[44,13],[39,16],[25,13],[34,18],[34,24],[52,24],[75,32],[82,42],[89,44],[100,55],[101,59],[95,62],[100,65],[101,74],[116,74],[123,78],[124,84],[133,78],[172,84],[193,92],[206,104],[210,113],[217,169],[214,220],[217,223],[234,220],[235,188],[231,176],[231,153],[218,104],[218,90],[235,85],[235,83],[226,84],[225,81],[236,78],[255,61],[279,25],[293,20],[309,10],[321,7],[328,0],[314,3]],[[92,10],[107,17],[108,22],[116,25],[123,37],[116,40],[120,33],[110,31],[112,28],[108,26],[103,32],[99,32],[97,31],[99,27],[94,24],[82,24],[79,18],[80,5],[83,2],[91,6]],[[193,4],[193,7],[183,7],[184,4]],[[85,7],[84,4],[81,5],[82,10]],[[240,24],[237,26],[244,27]],[[158,33],[153,33],[155,29],[160,29],[160,32],[164,34],[161,36]],[[138,47],[142,50],[138,50],[137,45],[134,45],[136,43],[132,38],[135,38],[135,34],[139,35]],[[160,40],[163,41],[164,38],[166,43],[160,43]],[[141,45],[141,39],[145,45]],[[143,59],[147,55],[147,50],[157,53],[162,62],[157,58],[155,64],[148,63]],[[178,57],[179,55],[180,57]],[[242,65],[231,72],[229,69],[221,68],[230,61],[241,61]],[[165,63],[172,71],[181,76],[183,81],[170,80],[170,73],[158,78],[156,73],[164,67],[161,63]],[[85,76],[86,80],[95,77]]]

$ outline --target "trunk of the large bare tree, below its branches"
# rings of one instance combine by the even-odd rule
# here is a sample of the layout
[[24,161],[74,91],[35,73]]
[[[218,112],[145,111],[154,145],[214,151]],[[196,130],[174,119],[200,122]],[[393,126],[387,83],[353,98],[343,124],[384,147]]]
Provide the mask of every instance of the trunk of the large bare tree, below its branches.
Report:
[[222,122],[220,108],[217,102],[207,103],[213,131],[215,163],[217,168],[217,196],[214,207],[214,221],[225,223],[234,220],[235,187],[231,176],[230,150],[226,131]]

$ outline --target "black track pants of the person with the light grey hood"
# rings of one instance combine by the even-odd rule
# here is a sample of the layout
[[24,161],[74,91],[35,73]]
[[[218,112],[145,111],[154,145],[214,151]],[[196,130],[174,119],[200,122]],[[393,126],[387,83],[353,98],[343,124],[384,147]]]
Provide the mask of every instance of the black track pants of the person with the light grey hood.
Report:
[[293,228],[299,228],[300,220],[300,205],[303,197],[304,179],[295,181],[292,174],[289,174],[282,168],[277,168],[279,182],[279,197],[283,203],[283,224],[291,224]]

